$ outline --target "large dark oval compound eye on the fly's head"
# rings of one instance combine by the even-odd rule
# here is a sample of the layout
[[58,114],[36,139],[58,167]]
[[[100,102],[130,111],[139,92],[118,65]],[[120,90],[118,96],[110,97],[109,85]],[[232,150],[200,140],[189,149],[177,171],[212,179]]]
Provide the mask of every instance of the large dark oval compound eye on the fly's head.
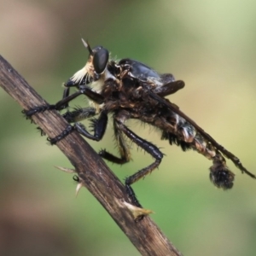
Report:
[[102,47],[96,47],[93,49],[94,55],[93,55],[93,60],[92,64],[94,67],[94,70],[97,74],[103,73],[105,68],[107,67],[108,64],[108,49],[102,48]]

